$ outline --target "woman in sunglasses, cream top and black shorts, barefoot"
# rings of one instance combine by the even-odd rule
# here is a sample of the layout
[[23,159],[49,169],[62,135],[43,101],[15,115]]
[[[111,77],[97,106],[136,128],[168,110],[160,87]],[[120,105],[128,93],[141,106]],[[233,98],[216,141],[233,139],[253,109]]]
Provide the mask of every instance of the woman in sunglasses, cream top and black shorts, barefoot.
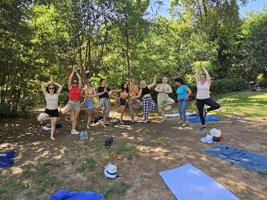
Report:
[[[48,85],[48,86],[45,89],[44,86],[46,86],[46,85]],[[59,87],[58,91],[54,85]],[[55,139],[54,138],[54,131],[56,128],[57,119],[59,117],[59,109],[58,109],[59,94],[61,93],[63,86],[58,84],[58,83],[55,83],[53,81],[52,76],[51,76],[50,82],[42,84],[41,87],[42,87],[42,91],[44,93],[44,97],[46,100],[46,107],[45,107],[44,113],[41,113],[39,115],[39,117],[37,118],[37,120],[39,122],[44,122],[47,120],[51,121],[50,139],[54,140]]]

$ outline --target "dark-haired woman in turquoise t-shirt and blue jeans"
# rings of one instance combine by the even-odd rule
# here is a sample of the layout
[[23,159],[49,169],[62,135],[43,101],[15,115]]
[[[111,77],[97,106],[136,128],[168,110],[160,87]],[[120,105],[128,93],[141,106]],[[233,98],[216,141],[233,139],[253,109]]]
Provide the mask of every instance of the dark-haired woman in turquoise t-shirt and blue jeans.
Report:
[[189,102],[189,96],[192,94],[192,91],[187,87],[186,83],[182,80],[182,78],[175,78],[175,84],[178,86],[176,93],[178,94],[178,111],[180,114],[181,122],[178,124],[182,124],[183,127],[186,126],[186,114],[185,109],[187,108]]

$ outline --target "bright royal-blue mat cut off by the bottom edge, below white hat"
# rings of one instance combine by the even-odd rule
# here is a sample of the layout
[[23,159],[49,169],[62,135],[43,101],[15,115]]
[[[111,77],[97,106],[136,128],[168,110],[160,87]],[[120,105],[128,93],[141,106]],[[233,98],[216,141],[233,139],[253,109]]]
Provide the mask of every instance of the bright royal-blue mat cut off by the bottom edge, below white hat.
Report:
[[48,200],[102,200],[102,194],[95,192],[69,192],[69,190],[59,190],[58,193],[52,195]]

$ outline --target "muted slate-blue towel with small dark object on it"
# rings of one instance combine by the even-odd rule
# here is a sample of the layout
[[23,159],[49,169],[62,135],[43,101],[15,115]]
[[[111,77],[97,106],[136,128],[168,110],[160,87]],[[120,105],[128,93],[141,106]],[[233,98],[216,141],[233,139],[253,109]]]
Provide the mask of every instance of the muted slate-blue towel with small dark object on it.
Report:
[[249,152],[244,149],[240,150],[225,144],[219,144],[202,152],[229,163],[234,163],[239,167],[247,168],[253,172],[267,172],[267,157],[258,153]]

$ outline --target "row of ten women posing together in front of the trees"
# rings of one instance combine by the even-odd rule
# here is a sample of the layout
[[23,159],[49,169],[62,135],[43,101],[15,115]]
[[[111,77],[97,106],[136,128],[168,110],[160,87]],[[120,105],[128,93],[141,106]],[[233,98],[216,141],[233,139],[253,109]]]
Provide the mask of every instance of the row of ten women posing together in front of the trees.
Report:
[[[200,74],[198,77],[200,68],[203,68],[203,74]],[[77,75],[77,79],[72,79],[74,73]],[[95,109],[99,111],[103,111],[103,127],[106,127],[105,122],[109,117],[110,113],[110,98],[115,99],[117,105],[121,108],[121,118],[120,123],[124,124],[122,119],[125,113],[126,107],[126,99],[128,98],[129,104],[129,111],[131,115],[131,121],[134,122],[134,112],[133,109],[143,107],[143,118],[144,122],[148,122],[148,114],[149,112],[154,112],[156,103],[151,98],[150,89],[156,84],[157,74],[154,75],[153,83],[147,85],[146,81],[142,80],[140,82],[140,90],[135,85],[135,79],[131,79],[131,85],[128,86],[126,82],[121,84],[120,89],[113,89],[110,90],[108,86],[106,86],[106,80],[104,78],[100,79],[100,87],[95,90],[91,86],[91,80],[85,80],[85,87],[82,87],[81,77],[77,73],[76,69],[73,67],[72,73],[69,76],[68,82],[68,89],[69,89],[69,101],[67,105],[64,107],[62,114],[68,115],[72,121],[72,129],[71,134],[79,134],[75,130],[78,116],[80,110],[87,110],[88,112],[88,121],[87,121],[87,128],[90,129],[90,122],[92,119],[93,109],[94,109],[94,101],[93,97],[98,96],[99,101],[95,105]],[[204,68],[202,62],[200,62],[199,67],[196,72],[196,84],[197,84],[197,108],[198,112],[200,113],[200,119],[202,123],[202,127],[200,130],[205,130],[205,117],[209,111],[216,110],[220,108],[220,105],[215,102],[209,96],[209,88],[210,88],[210,76],[208,71]],[[178,111],[180,115],[181,122],[178,124],[182,124],[183,127],[186,126],[186,108],[189,102],[189,96],[192,94],[192,91],[186,83],[183,81],[182,78],[175,78],[175,84],[178,86],[177,88],[177,101],[178,101]],[[47,88],[45,89],[45,86]],[[58,86],[59,89],[56,90],[55,86]],[[46,108],[44,113],[41,113],[38,117],[39,122],[51,121],[51,139],[54,140],[54,130],[57,118],[59,116],[58,112],[58,97],[62,90],[62,85],[55,83],[51,76],[49,83],[42,84],[42,91],[44,93],[46,99]],[[158,111],[162,115],[162,122],[164,122],[164,115],[165,110],[169,110],[171,105],[175,103],[175,101],[168,96],[168,94],[172,93],[172,88],[170,85],[167,84],[167,77],[164,76],[162,78],[162,83],[158,84],[155,88],[155,91],[158,92],[157,102],[158,102]],[[120,97],[116,97],[113,95],[113,92],[120,93]],[[138,98],[143,96],[143,102],[141,102]],[[84,102],[80,104],[80,98],[84,97]],[[204,105],[210,106],[209,108],[205,109]],[[70,112],[73,110],[73,112]],[[51,116],[51,117],[50,117]]]

